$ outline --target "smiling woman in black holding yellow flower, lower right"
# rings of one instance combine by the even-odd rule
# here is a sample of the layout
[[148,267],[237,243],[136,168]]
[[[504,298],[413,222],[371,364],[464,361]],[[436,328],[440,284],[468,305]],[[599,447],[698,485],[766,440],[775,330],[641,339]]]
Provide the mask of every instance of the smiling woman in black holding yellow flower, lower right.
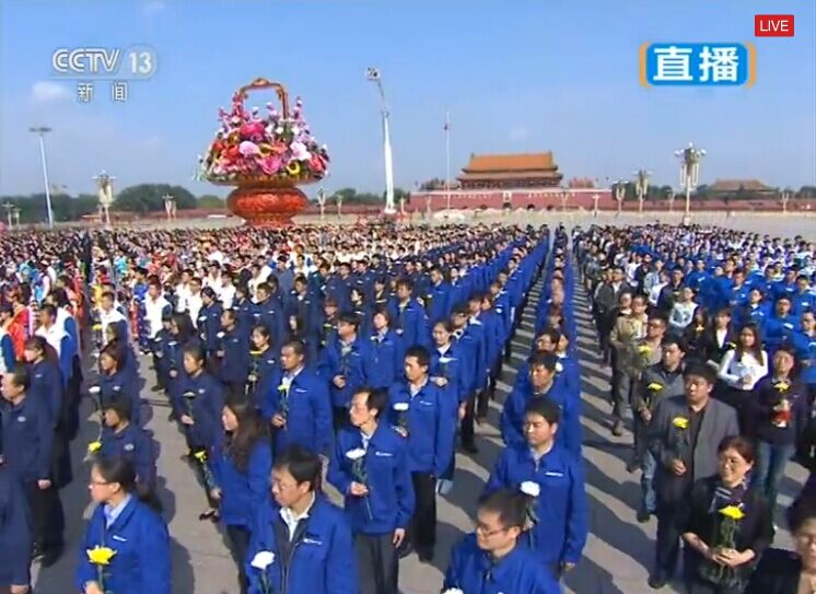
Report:
[[718,454],[719,473],[695,484],[683,522],[689,594],[742,594],[755,561],[773,540],[771,508],[748,480],[754,445],[726,438]]

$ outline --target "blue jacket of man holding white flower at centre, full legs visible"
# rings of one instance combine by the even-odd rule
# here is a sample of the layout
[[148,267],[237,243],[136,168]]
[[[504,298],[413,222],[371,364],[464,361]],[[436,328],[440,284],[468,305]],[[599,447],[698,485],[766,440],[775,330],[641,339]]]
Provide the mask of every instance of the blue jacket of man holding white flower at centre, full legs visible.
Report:
[[[403,403],[408,410],[398,412],[394,405]],[[394,427],[408,431],[408,468],[411,473],[442,476],[453,456],[456,417],[445,393],[430,381],[411,396],[405,382],[388,389],[388,419]],[[401,419],[400,419],[401,417]]]

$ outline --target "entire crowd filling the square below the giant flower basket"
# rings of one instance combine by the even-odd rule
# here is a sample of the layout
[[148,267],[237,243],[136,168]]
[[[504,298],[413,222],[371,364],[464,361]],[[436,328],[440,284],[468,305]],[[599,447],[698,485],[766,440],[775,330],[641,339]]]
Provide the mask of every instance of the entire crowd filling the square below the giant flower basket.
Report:
[[816,480],[791,508],[798,555],[769,548],[785,464],[816,458],[815,254],[800,238],[385,224],[12,234],[0,248],[0,587],[13,594],[30,592],[34,560],[63,554],[69,444],[89,422],[96,505],[75,587],[172,591],[151,370],[237,591],[398,592],[400,559],[439,555],[438,498],[457,447],[478,453],[525,308],[532,352],[493,405],[505,447],[440,590],[560,592],[588,532],[576,290],[611,366],[611,432],[633,435],[638,520],[657,516],[649,585],[681,549],[692,593],[767,591],[783,563],[795,587],[816,585]]

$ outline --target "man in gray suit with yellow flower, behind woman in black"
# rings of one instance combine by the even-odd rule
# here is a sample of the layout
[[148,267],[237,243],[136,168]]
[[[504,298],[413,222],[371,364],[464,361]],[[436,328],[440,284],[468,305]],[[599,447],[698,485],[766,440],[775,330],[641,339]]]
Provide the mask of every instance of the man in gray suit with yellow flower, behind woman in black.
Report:
[[720,443],[739,434],[734,409],[711,398],[716,373],[695,365],[683,377],[684,395],[661,398],[649,427],[649,450],[657,462],[657,550],[649,578],[653,589],[663,587],[677,568],[679,514],[691,486],[718,473]]

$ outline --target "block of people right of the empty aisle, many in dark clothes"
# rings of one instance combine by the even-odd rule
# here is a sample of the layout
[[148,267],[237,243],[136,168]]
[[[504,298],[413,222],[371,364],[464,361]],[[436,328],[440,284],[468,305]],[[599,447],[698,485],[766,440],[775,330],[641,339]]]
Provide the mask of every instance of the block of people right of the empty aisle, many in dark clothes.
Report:
[[[765,554],[785,467],[816,468],[814,244],[667,225],[576,238],[610,430],[625,435],[631,409],[637,519],[657,517],[649,585],[674,578],[683,545],[688,592],[759,592],[751,579],[779,576]],[[772,592],[814,591],[815,508],[806,487],[791,510],[804,564]]]

